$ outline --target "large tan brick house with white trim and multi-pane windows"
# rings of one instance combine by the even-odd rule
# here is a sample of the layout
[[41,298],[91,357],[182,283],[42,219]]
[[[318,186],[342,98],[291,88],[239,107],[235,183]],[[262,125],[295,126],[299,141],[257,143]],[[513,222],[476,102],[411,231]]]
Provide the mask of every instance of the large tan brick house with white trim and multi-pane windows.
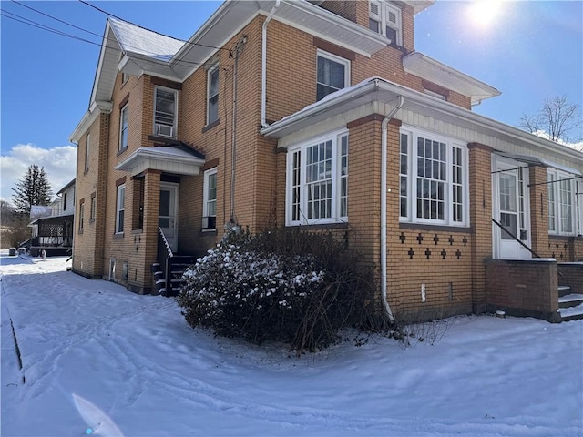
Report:
[[152,264],[225,229],[332,229],[400,319],[560,320],[583,155],[472,112],[496,88],[414,49],[433,3],[227,1],[187,43],[109,19],[71,136],[73,269],[172,294]]

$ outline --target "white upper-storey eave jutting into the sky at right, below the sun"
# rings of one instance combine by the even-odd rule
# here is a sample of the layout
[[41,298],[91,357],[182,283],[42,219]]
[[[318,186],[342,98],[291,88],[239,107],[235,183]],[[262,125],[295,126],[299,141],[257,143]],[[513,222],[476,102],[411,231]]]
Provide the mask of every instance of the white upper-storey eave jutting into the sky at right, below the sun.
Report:
[[403,69],[406,73],[419,76],[436,85],[444,86],[464,96],[471,97],[472,105],[489,97],[500,95],[495,87],[467,76],[451,66],[445,66],[439,61],[420,52],[413,52],[403,57]]

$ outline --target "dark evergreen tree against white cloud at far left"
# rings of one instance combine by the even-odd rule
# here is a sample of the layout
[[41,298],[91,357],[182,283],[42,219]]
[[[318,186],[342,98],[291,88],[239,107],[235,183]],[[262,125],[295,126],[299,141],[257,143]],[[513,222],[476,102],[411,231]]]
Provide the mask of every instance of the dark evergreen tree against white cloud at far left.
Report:
[[29,166],[25,176],[12,188],[16,212],[30,215],[32,205],[48,205],[53,197],[53,191],[48,183],[45,168],[36,164]]

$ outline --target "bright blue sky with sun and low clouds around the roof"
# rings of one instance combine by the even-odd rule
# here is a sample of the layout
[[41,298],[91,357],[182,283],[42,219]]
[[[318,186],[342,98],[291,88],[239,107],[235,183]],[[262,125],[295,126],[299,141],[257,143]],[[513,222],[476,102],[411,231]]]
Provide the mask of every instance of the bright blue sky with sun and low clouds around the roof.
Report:
[[[475,3],[437,0],[417,15],[415,48],[502,92],[474,107],[477,113],[517,126],[522,114],[536,112],[548,97],[565,95],[571,103],[583,104],[583,1],[501,2],[490,20],[491,7],[477,19],[470,14]],[[160,33],[188,39],[220,2],[91,4]],[[76,147],[68,137],[87,110],[107,15],[78,1],[2,0],[0,7],[0,198],[11,198],[10,188],[30,164],[44,166],[57,191],[75,177]]]

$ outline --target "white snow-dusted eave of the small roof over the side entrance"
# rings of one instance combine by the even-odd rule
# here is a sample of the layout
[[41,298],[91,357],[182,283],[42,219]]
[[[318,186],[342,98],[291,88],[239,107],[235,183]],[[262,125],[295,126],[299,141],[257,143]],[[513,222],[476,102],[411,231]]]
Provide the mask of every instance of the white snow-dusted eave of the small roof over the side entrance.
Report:
[[200,174],[204,163],[203,158],[195,157],[181,147],[140,147],[115,168],[128,171],[132,176],[148,169],[195,176]]

